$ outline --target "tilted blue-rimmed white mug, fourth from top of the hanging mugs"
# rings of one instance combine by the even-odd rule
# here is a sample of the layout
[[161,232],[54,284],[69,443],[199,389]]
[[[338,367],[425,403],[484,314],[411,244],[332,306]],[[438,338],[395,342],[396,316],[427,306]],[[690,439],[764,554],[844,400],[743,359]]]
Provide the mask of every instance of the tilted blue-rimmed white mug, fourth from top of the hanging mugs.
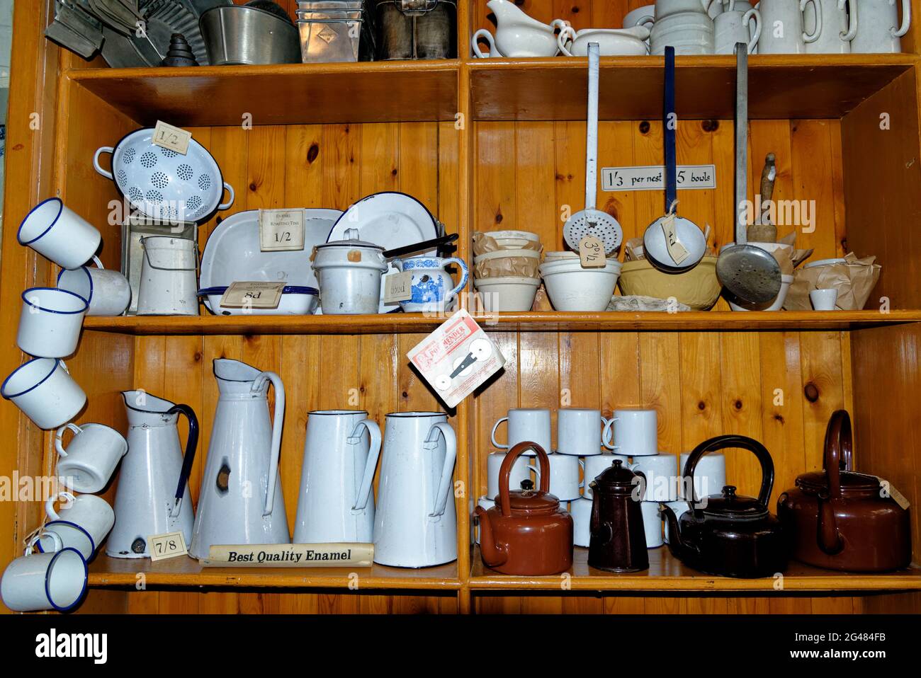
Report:
[[45,431],[64,426],[87,403],[87,394],[57,358],[33,358],[19,365],[0,386],[0,395]]

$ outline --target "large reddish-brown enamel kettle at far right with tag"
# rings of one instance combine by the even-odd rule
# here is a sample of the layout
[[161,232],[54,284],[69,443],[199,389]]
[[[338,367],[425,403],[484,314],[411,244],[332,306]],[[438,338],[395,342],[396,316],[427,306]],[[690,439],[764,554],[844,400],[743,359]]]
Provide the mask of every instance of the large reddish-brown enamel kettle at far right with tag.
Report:
[[906,568],[912,559],[909,511],[877,477],[851,470],[852,447],[851,418],[839,409],[825,431],[825,469],[797,477],[797,487],[777,500],[793,557],[852,572]]

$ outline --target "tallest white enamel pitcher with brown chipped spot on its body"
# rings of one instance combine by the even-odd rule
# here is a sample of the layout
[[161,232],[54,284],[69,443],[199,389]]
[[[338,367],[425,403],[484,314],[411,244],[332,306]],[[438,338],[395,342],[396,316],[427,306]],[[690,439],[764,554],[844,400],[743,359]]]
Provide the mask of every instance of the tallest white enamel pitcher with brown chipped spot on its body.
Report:
[[214,370],[220,396],[189,554],[206,558],[215,544],[290,544],[278,476],[285,385],[278,374],[245,362],[218,358]]

